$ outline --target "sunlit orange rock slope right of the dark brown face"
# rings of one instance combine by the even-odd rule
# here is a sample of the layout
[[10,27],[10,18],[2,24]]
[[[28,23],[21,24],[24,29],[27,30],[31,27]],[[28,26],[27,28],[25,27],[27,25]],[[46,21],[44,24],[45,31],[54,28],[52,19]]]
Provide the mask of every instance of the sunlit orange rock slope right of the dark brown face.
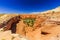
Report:
[[[30,40],[60,40],[60,11],[56,9],[36,15],[20,15],[16,33]],[[32,26],[28,19],[35,19]],[[24,23],[24,20],[28,20],[28,23]]]

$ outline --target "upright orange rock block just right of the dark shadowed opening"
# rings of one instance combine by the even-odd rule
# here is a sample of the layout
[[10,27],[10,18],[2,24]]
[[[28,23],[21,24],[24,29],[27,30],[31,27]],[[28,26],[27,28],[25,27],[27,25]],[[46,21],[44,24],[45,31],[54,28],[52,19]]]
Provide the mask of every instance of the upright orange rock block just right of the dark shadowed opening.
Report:
[[18,24],[17,24],[17,27],[16,27],[16,33],[20,34],[20,35],[25,35],[25,24],[23,23],[23,21],[20,21]]

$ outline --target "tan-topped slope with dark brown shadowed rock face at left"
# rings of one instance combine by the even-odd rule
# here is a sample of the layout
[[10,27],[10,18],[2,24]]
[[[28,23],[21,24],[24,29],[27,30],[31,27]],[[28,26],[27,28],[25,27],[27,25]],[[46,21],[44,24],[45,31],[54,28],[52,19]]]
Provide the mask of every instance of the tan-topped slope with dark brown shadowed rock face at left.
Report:
[[0,17],[0,28],[4,28],[4,30],[11,29],[12,32],[15,32],[15,26],[19,22],[19,19],[20,16],[18,14],[5,14]]

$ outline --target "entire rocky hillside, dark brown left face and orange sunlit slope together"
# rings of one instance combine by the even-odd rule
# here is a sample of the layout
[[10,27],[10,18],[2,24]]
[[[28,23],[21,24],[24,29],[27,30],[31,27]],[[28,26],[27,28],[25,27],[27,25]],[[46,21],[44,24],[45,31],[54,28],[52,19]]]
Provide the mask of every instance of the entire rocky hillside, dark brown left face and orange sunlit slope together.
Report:
[[13,33],[25,36],[29,40],[60,40],[60,11],[58,9],[40,14],[5,15],[8,21],[1,21],[0,27],[4,30],[11,29]]

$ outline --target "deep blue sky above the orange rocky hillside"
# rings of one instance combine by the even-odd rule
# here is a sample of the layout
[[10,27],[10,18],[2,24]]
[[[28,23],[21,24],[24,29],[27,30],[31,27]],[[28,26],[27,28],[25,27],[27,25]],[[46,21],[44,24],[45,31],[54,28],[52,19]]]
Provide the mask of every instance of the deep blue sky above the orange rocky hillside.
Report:
[[60,6],[60,0],[0,0],[0,13],[31,13]]

